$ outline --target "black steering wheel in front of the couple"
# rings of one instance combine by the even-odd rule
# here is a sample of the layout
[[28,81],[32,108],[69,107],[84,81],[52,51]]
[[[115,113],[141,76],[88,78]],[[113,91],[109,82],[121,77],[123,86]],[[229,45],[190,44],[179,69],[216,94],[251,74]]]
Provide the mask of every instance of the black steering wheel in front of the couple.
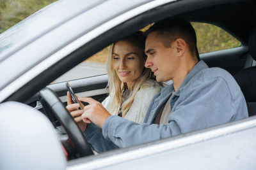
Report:
[[40,90],[39,96],[45,101],[45,104],[42,103],[43,106],[50,110],[64,127],[76,153],[79,153],[81,157],[93,155],[92,148],[84,138],[83,133],[55,92],[45,87]]

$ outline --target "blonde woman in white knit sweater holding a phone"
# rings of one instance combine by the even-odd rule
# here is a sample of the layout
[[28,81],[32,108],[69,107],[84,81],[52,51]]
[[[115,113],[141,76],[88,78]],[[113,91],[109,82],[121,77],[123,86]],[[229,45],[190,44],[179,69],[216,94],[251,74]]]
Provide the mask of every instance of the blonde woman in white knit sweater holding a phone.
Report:
[[[150,101],[161,90],[161,84],[154,80],[151,70],[144,67],[147,59],[144,50],[145,37],[142,32],[136,32],[111,45],[107,63],[109,96],[102,104],[90,99],[93,103],[99,104],[99,107],[106,108],[105,112],[138,124],[143,122]],[[79,99],[84,101],[85,98]],[[69,94],[68,104],[71,104]],[[74,110],[70,106],[67,106],[67,109]],[[76,122],[81,121],[82,112],[71,112]]]

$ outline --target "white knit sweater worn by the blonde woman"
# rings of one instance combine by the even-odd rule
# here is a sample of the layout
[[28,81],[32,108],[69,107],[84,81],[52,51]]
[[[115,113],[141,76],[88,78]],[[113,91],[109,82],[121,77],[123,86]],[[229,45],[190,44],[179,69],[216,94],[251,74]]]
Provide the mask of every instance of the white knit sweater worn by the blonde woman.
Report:
[[[131,120],[138,124],[143,123],[151,100],[161,90],[161,87],[154,80],[148,80],[145,83],[149,83],[149,85],[151,85],[151,87],[141,88],[137,92],[136,96],[134,97],[134,101],[132,103],[131,108],[129,109],[129,111],[126,113],[126,115],[124,117],[124,118],[127,118],[128,120]],[[108,96],[102,102],[103,106],[108,111],[110,110],[112,99],[113,98],[111,96]],[[117,115],[117,112],[111,113],[111,114]]]

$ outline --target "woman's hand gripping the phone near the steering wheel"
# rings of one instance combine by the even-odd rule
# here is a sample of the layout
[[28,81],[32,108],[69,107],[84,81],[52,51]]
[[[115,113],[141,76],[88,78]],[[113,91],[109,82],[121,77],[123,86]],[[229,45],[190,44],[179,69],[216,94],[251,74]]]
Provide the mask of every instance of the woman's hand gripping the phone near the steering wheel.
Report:
[[[75,122],[77,123],[77,125],[79,126],[79,128],[81,129],[82,132],[84,132],[86,130],[86,127],[88,124],[86,123],[91,123],[90,120],[87,120],[87,122],[83,122],[81,115],[83,114],[84,110],[84,105],[83,103],[81,103],[81,101],[79,101],[80,104],[78,103],[72,103],[72,98],[69,92],[67,92],[67,110],[69,111],[70,115],[74,118]],[[82,107],[82,110],[79,110],[79,107]]]

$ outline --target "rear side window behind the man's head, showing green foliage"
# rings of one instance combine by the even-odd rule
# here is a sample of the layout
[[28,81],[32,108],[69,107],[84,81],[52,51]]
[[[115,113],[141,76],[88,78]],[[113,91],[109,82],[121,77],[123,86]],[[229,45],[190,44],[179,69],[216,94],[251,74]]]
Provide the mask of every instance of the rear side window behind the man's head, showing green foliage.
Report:
[[234,36],[216,25],[191,22],[196,31],[199,53],[215,52],[241,46],[241,42]]

